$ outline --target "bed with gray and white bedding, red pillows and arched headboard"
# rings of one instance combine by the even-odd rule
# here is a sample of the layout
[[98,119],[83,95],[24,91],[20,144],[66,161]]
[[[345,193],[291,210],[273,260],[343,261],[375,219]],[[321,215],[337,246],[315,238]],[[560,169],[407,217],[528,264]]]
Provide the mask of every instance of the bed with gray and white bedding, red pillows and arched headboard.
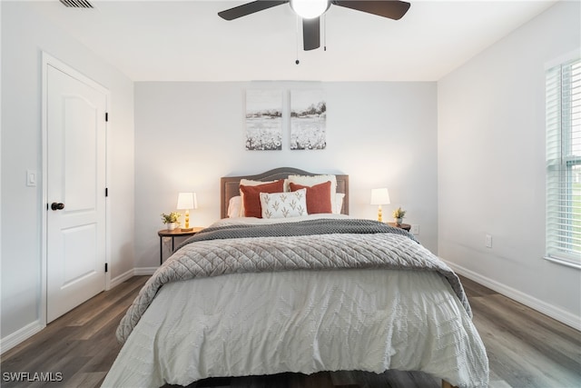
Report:
[[[261,217],[247,216],[256,194]],[[458,276],[411,234],[351,217],[342,174],[222,177],[221,220],[153,274],[117,337],[123,348],[103,386],[353,370],[488,383]]]

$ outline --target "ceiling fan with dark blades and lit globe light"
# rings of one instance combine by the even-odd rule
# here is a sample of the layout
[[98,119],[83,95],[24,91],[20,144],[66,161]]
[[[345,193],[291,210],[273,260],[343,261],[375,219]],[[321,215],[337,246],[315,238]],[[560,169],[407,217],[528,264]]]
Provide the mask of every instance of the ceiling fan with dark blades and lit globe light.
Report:
[[320,15],[327,12],[330,5],[344,6],[393,20],[399,20],[406,15],[410,6],[409,3],[398,0],[258,0],[227,9],[219,12],[218,15],[223,19],[233,20],[286,3],[291,3],[292,10],[302,18],[302,38],[305,50],[320,47]]

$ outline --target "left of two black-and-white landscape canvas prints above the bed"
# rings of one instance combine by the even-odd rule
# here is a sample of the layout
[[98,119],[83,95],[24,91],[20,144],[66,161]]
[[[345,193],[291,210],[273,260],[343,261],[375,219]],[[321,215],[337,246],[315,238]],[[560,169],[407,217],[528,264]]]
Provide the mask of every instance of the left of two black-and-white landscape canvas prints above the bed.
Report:
[[246,149],[282,149],[281,90],[246,91]]

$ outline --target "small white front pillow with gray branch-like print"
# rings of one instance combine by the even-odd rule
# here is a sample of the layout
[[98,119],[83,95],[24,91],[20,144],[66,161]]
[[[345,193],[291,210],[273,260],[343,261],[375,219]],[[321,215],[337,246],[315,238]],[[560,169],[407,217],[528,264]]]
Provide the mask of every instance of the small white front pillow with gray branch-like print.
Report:
[[307,189],[292,193],[261,193],[262,218],[307,215]]

